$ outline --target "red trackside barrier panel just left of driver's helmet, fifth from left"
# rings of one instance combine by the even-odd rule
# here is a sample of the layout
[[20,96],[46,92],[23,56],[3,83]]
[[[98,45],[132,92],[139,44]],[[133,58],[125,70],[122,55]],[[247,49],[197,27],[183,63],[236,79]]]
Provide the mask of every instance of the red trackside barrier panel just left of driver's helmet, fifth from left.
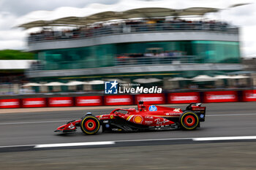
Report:
[[105,105],[132,105],[132,95],[104,96]]

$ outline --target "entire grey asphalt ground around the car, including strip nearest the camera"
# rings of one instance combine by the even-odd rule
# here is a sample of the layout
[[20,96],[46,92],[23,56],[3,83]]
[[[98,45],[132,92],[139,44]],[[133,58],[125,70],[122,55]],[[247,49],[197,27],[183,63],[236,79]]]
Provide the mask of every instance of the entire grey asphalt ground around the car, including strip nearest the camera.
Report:
[[[0,115],[0,147],[72,142],[124,142],[118,147],[60,147],[55,150],[1,152],[0,169],[256,169],[256,140],[221,142],[161,142],[158,139],[197,139],[256,136],[256,103],[203,104],[206,122],[195,131],[151,131],[84,135],[53,131],[85,112],[108,114],[111,109],[20,112]],[[185,105],[177,105],[184,108]],[[143,139],[143,141],[141,141]],[[147,140],[156,140],[147,142]],[[8,150],[11,150],[8,148]],[[12,151],[12,150],[11,150]],[[172,164],[173,163],[173,164]],[[174,166],[173,166],[174,165]]]

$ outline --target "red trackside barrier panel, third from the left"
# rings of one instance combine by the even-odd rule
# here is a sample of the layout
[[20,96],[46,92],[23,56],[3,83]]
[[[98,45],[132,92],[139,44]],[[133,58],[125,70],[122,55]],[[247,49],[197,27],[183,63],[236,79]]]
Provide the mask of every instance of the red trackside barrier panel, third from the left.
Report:
[[48,107],[72,107],[72,97],[52,97],[48,98]]

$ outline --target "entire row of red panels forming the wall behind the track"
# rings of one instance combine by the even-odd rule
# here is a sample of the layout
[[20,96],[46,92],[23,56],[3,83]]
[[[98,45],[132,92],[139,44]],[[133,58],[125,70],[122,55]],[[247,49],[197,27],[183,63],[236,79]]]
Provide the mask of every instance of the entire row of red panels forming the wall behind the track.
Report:
[[215,103],[256,101],[256,90],[206,91],[187,93],[154,93],[112,96],[76,96],[49,98],[1,99],[0,109],[31,107],[91,107],[145,104],[188,104],[191,102]]

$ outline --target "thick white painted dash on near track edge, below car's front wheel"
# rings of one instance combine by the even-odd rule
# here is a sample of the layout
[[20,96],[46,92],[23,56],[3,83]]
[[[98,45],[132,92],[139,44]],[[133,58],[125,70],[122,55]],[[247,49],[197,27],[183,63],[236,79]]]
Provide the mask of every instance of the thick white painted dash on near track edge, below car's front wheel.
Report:
[[105,145],[116,144],[114,141],[106,142],[78,142],[78,143],[62,143],[62,144],[37,144],[34,148],[42,147],[78,147],[78,146],[93,146],[93,145]]

